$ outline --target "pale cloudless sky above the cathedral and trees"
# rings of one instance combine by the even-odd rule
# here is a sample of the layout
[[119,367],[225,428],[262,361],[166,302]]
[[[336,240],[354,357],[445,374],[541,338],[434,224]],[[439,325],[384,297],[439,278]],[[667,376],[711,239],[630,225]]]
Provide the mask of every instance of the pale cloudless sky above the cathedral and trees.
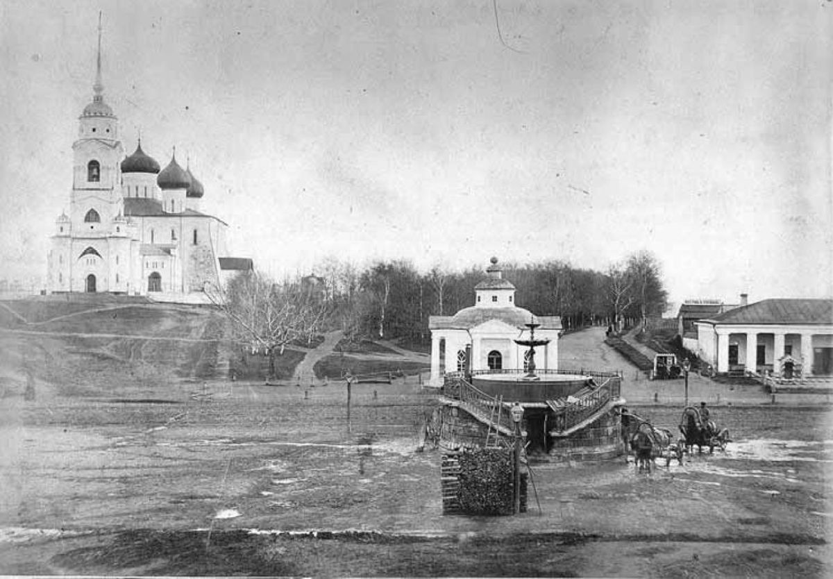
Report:
[[0,0],[0,278],[45,277],[101,10],[128,154],[190,155],[273,274],[647,249],[672,301],[833,294],[833,2],[496,8]]

